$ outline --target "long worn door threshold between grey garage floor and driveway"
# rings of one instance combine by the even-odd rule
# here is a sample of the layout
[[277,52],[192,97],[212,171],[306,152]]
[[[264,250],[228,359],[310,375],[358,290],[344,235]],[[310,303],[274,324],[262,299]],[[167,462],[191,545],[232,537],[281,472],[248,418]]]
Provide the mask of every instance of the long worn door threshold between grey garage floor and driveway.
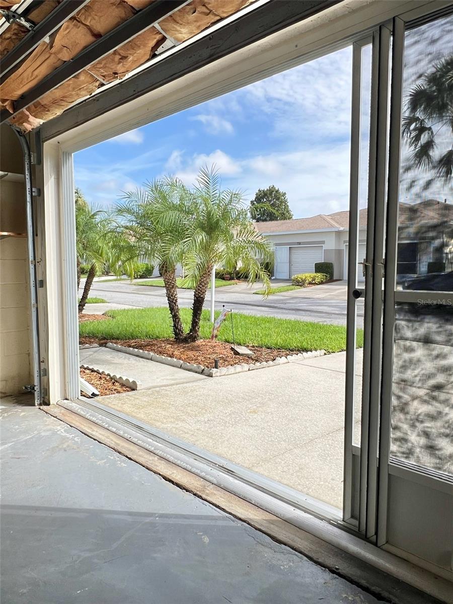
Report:
[[[225,484],[218,484],[210,467],[205,467],[204,473],[195,473],[190,460],[184,463],[175,452],[171,459],[170,455],[162,457],[150,451],[142,446],[143,435],[122,429],[112,419],[95,418],[78,403],[66,400],[40,409],[379,599],[395,604],[451,601],[451,583],[442,577],[234,477],[225,476]],[[120,431],[123,434],[118,434]]]

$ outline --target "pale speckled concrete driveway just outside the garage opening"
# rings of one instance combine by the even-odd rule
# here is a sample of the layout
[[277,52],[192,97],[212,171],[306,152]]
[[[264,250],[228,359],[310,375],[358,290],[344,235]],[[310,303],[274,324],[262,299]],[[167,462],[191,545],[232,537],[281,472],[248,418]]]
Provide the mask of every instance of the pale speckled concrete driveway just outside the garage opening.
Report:
[[[361,360],[362,350],[358,350],[358,394]],[[341,508],[344,372],[345,353],[341,352],[231,376],[103,396],[100,401]],[[355,443],[359,432],[356,410]]]

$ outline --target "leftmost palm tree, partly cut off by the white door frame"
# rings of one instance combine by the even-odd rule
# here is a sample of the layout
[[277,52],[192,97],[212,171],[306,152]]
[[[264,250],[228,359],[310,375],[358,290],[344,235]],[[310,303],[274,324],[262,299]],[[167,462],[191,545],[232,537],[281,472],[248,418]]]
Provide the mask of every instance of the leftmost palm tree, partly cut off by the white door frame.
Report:
[[100,274],[111,254],[109,245],[110,218],[108,213],[91,207],[82,195],[76,191],[76,254],[77,254],[77,291],[80,286],[80,264],[89,265],[82,297],[79,301],[79,313],[85,308],[86,300],[94,277]]

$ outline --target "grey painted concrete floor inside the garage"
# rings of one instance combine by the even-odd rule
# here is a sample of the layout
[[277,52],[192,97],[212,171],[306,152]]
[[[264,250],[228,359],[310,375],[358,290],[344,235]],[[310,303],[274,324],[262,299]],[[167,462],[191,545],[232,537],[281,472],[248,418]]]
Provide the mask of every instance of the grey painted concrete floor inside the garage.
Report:
[[0,417],[2,602],[381,601],[36,408]]

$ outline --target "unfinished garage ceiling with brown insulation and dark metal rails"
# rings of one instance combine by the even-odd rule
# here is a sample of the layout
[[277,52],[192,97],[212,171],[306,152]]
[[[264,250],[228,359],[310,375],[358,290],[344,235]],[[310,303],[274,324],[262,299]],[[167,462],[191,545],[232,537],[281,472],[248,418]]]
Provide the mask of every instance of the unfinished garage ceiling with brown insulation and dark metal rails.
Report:
[[[23,62],[4,74],[2,108],[13,114],[10,123],[30,130],[100,86],[120,80],[164,45],[167,49],[178,45],[251,2],[46,0],[36,8],[32,3],[22,17],[31,24],[31,31],[23,23],[12,22],[1,35],[0,56],[6,67],[8,54],[36,34],[36,26],[51,18],[54,11],[59,11],[63,22],[37,43]],[[0,0],[2,8],[11,5],[13,0]],[[71,15],[73,7],[79,10]],[[55,82],[58,85],[54,88]]]

